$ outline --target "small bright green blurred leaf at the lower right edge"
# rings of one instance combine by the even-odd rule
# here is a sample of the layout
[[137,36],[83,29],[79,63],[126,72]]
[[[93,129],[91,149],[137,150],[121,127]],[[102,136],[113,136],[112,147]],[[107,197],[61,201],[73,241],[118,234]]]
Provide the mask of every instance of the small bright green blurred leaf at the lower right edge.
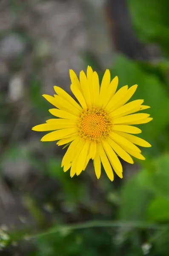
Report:
[[169,199],[155,198],[148,207],[148,218],[150,221],[168,221]]

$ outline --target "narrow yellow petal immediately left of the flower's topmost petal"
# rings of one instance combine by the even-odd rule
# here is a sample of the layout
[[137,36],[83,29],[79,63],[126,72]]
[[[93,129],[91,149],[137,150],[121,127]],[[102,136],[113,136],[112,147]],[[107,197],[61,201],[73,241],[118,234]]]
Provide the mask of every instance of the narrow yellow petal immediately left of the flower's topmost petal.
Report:
[[91,97],[90,97],[90,90],[89,90],[89,85],[87,81],[87,77],[84,73],[84,71],[80,71],[80,86],[82,89],[82,93],[84,96],[84,99],[86,101],[86,105],[90,107],[92,105],[91,103]]

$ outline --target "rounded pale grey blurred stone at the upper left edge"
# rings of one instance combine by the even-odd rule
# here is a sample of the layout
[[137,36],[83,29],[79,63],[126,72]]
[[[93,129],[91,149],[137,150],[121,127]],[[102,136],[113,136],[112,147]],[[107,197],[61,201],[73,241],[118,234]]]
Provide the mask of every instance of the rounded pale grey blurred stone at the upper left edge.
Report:
[[0,58],[15,58],[23,53],[25,48],[25,42],[18,35],[7,35],[0,41]]

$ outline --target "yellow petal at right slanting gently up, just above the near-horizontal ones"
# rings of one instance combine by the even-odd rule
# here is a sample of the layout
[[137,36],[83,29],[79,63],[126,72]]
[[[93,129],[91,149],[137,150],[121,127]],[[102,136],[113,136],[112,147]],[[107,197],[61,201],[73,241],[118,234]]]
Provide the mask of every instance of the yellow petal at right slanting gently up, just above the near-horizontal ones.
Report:
[[112,111],[111,116],[115,117],[118,115],[121,115],[123,113],[126,113],[128,111],[131,111],[137,107],[140,107],[140,105],[144,102],[143,99],[136,99],[132,102],[127,103],[126,105],[123,105],[120,108],[117,108],[116,110]]

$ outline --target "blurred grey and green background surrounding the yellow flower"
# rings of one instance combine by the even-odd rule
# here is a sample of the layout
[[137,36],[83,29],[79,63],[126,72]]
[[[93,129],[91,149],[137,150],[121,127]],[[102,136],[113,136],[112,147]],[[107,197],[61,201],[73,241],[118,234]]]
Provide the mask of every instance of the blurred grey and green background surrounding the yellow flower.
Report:
[[[0,0],[0,256],[169,256],[169,1]],[[99,180],[70,178],[66,149],[42,143],[41,96],[69,69],[106,68],[151,106],[152,148]],[[140,135],[140,134],[139,134]]]

